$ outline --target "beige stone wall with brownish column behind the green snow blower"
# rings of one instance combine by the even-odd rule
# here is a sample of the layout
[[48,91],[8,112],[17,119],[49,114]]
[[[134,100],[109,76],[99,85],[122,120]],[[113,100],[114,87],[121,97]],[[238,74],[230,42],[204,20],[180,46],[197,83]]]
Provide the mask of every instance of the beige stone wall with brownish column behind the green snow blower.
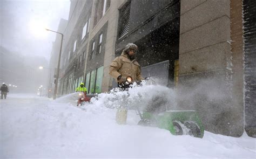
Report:
[[[235,56],[232,52],[237,44],[233,45],[231,39],[237,29],[236,25],[232,27],[233,21],[241,24],[241,15],[237,20],[233,16],[237,17],[241,10],[234,13],[233,4],[237,2],[181,0],[179,92],[189,99],[181,98],[180,107],[197,109],[206,130],[240,136],[243,132],[241,48]],[[235,6],[241,9],[240,4]],[[239,27],[234,33],[239,44],[240,31]]]

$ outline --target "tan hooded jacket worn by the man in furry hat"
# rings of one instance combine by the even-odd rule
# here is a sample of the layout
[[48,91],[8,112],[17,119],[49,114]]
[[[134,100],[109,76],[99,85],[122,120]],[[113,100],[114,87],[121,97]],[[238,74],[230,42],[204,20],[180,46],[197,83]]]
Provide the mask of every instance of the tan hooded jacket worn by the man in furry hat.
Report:
[[119,75],[122,75],[124,79],[126,79],[127,76],[130,76],[133,81],[144,80],[140,72],[139,63],[135,59],[131,61],[124,51],[121,56],[116,57],[112,61],[109,68],[109,74],[116,79],[116,81]]

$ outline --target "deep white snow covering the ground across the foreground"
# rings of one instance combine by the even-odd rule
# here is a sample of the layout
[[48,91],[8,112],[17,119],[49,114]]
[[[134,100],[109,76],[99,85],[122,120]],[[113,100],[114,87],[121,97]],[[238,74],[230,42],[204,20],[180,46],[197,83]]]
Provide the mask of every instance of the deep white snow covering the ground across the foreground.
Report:
[[256,139],[245,133],[238,138],[210,132],[203,139],[174,136],[165,129],[138,126],[139,116],[133,110],[127,125],[117,125],[116,109],[105,107],[118,105],[111,100],[117,98],[113,94],[101,94],[82,108],[75,106],[75,94],[56,101],[8,94],[8,99],[0,100],[0,158],[256,157]]

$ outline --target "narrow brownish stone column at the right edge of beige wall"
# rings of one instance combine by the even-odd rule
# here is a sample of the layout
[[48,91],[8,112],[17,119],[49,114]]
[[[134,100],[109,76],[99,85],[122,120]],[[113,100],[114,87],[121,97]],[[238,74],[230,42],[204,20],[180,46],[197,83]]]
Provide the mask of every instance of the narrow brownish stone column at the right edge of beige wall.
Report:
[[244,132],[244,39],[242,29],[242,0],[230,1],[230,36],[232,56],[232,131]]

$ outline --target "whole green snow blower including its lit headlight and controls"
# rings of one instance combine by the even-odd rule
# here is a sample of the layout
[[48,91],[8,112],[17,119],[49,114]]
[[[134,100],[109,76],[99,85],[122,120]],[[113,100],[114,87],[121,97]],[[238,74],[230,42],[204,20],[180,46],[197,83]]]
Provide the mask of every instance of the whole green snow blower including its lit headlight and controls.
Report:
[[[119,87],[125,91],[132,87],[132,84],[132,78],[127,77],[126,81]],[[163,101],[161,95],[158,98],[152,100]],[[196,110],[167,110],[165,106],[166,103],[151,103],[143,113],[140,113],[136,105],[136,112],[141,119],[138,125],[163,128],[169,130],[173,135],[190,135],[203,138],[204,127]]]

